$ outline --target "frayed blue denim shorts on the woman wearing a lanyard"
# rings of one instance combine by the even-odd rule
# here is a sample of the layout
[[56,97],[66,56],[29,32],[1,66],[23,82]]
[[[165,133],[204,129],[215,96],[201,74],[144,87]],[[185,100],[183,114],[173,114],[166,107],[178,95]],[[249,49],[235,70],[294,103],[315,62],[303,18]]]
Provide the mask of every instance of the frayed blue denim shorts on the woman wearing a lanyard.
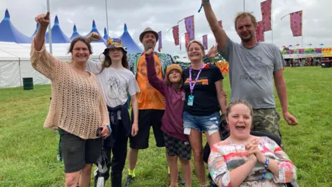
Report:
[[208,132],[209,135],[219,131],[220,114],[216,112],[210,116],[194,116],[183,112],[183,128],[185,134],[190,134],[190,129]]

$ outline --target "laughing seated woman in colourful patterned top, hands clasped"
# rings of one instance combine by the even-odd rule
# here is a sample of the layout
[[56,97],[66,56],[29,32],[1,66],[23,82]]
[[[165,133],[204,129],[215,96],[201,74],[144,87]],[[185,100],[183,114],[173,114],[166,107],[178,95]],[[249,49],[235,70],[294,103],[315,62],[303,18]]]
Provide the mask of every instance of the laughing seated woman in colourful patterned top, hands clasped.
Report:
[[218,186],[286,186],[296,168],[282,148],[268,137],[250,135],[252,108],[233,100],[226,109],[230,136],[212,146],[208,167]]

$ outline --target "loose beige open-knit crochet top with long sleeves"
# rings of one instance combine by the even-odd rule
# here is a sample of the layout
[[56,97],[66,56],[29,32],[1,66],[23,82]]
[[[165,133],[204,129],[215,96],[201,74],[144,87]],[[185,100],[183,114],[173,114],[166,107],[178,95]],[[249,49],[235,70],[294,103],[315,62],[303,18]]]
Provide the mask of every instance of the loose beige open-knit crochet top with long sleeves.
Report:
[[98,127],[109,124],[109,114],[93,73],[81,75],[45,49],[31,46],[31,63],[34,69],[51,80],[52,100],[44,127],[62,128],[82,139],[96,139]]

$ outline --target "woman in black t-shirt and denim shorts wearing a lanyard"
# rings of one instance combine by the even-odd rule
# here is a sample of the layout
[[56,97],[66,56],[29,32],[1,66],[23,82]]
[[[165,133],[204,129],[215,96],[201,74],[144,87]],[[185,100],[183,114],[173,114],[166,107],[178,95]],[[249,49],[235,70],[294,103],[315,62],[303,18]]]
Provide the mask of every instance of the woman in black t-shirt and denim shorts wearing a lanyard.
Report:
[[209,145],[221,141],[219,136],[220,110],[225,114],[226,98],[223,96],[223,75],[217,66],[203,63],[205,55],[201,42],[192,40],[187,55],[191,66],[183,71],[185,106],[183,127],[189,135],[194,152],[196,177],[201,186],[206,185],[203,163],[202,132]]

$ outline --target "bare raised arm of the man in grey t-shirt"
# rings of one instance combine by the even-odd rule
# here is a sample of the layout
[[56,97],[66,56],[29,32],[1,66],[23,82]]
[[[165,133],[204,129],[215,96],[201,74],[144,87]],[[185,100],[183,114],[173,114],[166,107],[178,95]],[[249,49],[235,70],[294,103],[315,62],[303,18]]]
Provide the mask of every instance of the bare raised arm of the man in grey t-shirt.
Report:
[[[205,3],[205,1],[207,0],[202,0],[202,3]],[[227,35],[225,33],[225,30],[223,30],[223,28],[219,26],[218,20],[216,19],[216,15],[214,15],[214,12],[212,10],[210,1],[208,3],[205,3],[203,8],[205,12],[205,17],[208,20],[208,23],[210,25],[214,37],[216,38],[216,43],[218,44],[221,51],[225,51]]]

